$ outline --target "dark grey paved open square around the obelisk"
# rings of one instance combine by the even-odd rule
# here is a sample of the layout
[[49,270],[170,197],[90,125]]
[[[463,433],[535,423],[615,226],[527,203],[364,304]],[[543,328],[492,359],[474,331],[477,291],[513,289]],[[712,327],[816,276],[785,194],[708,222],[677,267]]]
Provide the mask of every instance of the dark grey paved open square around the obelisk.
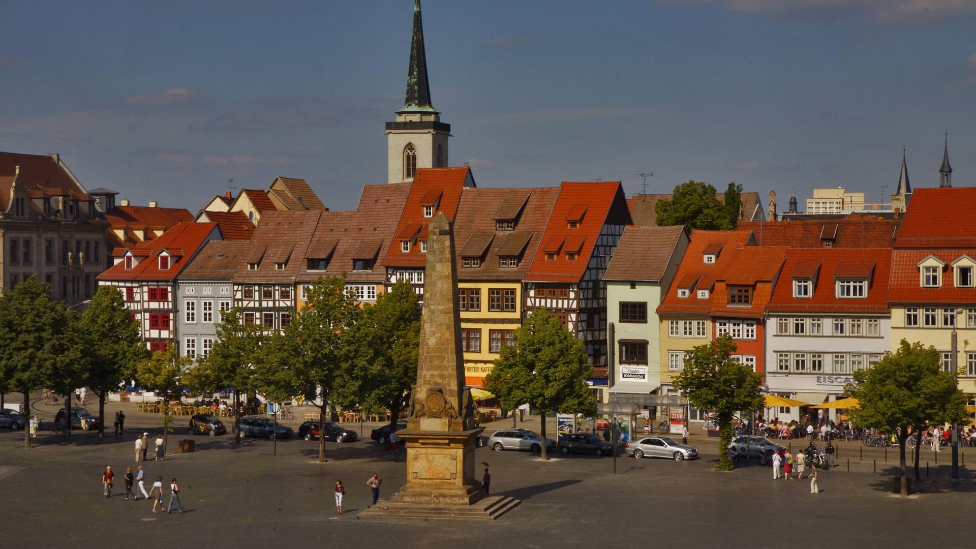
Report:
[[[196,437],[196,451],[176,453],[187,421],[179,417],[171,453],[162,462],[150,458],[144,469],[148,479],[162,475],[167,485],[177,477],[189,512],[153,515],[151,502],[123,499],[121,477],[126,467],[135,468],[136,434],[159,433],[159,416],[139,413],[129,403],[109,404],[105,415],[111,417],[120,407],[128,416],[121,439],[110,429],[101,443],[95,433],[76,431],[61,438],[45,429],[35,440],[37,447],[28,450],[20,447],[20,432],[0,431],[5,525],[0,547],[581,547],[608,542],[771,547],[799,539],[834,547],[904,546],[932,542],[933,525],[968,522],[971,517],[959,512],[970,514],[976,501],[970,470],[963,471],[959,488],[951,489],[948,450],[939,454],[938,467],[930,463],[923,493],[906,500],[887,492],[895,452],[889,452],[887,463],[877,457],[855,461],[848,473],[843,454],[857,452],[857,445],[841,443],[841,463],[820,474],[821,492],[813,495],[806,482],[772,481],[769,467],[713,472],[716,444],[695,435],[690,442],[703,449],[702,459],[619,458],[617,475],[610,457],[556,455],[542,462],[528,453],[478,448],[477,470],[491,467],[492,491],[522,500],[500,520],[360,521],[358,512],[370,503],[365,483],[371,473],[384,480],[382,497],[405,482],[403,452],[393,454],[369,441],[370,426],[364,426],[365,441],[326,443],[329,462],[320,464],[316,442],[294,439],[279,441],[277,456],[270,441],[249,439],[238,447],[229,436]],[[50,419],[57,407],[41,404],[39,409],[42,418],[47,413]],[[300,421],[291,423],[297,427]],[[525,426],[538,431],[538,418]],[[923,463],[934,457],[930,454],[922,452]],[[963,454],[972,467],[976,448],[963,448]],[[880,462],[878,474],[871,472],[873,459]],[[102,496],[105,465],[116,472],[110,498]],[[332,494],[337,479],[347,490],[342,516],[336,515]],[[168,501],[168,486],[166,491]],[[938,546],[971,547],[973,540],[962,537],[962,529],[948,528],[953,533],[940,534]]]

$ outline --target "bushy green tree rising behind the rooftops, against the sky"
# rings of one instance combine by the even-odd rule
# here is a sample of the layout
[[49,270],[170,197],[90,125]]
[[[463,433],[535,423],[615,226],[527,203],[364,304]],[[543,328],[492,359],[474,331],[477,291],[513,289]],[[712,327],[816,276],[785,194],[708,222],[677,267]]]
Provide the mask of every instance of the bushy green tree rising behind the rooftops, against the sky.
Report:
[[674,188],[671,200],[658,200],[654,205],[659,226],[683,225],[685,231],[695,229],[729,231],[735,229],[739,217],[729,218],[728,202],[723,204],[715,196],[715,188],[700,181],[689,181]]

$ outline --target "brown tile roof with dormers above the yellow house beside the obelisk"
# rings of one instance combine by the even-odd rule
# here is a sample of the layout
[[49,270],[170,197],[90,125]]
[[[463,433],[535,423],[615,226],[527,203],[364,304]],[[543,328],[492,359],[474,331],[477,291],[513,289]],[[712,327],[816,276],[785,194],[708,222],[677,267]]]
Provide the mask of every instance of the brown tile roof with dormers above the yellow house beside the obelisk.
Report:
[[[558,195],[557,187],[465,188],[454,222],[455,245],[465,246],[474,234],[491,234],[494,238],[477,268],[465,268],[461,254],[457,254],[458,279],[521,281],[535,257]],[[514,231],[496,231],[497,219],[514,220]],[[502,257],[517,257],[517,267],[501,267]]]

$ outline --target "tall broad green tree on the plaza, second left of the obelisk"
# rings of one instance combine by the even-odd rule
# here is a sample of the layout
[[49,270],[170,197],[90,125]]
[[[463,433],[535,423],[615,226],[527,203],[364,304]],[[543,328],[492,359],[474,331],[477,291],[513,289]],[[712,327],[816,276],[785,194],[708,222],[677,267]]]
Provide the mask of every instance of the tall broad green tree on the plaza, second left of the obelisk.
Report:
[[[305,309],[298,319],[275,337],[258,364],[260,384],[266,392],[302,395],[319,407],[320,425],[330,404],[347,401],[355,391],[350,334],[362,314],[346,292],[344,278],[315,279],[307,290]],[[319,437],[318,460],[325,461],[325,439]]]

